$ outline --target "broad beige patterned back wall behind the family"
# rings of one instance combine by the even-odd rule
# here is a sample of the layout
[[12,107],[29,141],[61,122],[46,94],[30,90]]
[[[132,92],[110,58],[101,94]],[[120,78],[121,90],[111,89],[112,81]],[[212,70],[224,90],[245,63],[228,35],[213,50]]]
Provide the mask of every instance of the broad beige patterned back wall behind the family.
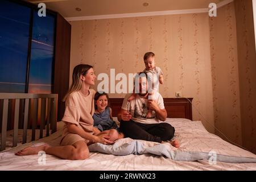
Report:
[[[162,68],[164,73],[164,84],[159,88],[160,94],[163,97],[175,97],[175,92],[180,91],[184,97],[193,97],[193,104],[213,125],[207,13],[82,20],[70,23],[70,75],[73,67],[81,63],[93,65],[97,75],[107,73],[110,76],[110,68],[115,68],[115,75],[143,71],[143,55],[152,51],[156,55],[156,65]],[[94,89],[97,90],[97,86],[94,86]],[[110,94],[110,97],[124,95],[115,93]],[[208,131],[214,132],[195,108],[193,120],[203,121]]]

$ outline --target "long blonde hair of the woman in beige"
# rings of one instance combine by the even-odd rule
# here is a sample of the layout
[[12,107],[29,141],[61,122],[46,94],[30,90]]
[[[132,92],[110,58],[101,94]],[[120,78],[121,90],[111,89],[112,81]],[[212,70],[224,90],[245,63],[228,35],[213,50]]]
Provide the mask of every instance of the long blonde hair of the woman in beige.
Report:
[[63,98],[63,101],[66,101],[69,94],[75,91],[79,91],[82,88],[82,80],[80,79],[80,76],[85,76],[86,73],[90,68],[93,68],[93,66],[88,64],[79,64],[76,65],[76,67],[73,69],[73,75],[72,75],[72,85],[68,89],[68,93]]

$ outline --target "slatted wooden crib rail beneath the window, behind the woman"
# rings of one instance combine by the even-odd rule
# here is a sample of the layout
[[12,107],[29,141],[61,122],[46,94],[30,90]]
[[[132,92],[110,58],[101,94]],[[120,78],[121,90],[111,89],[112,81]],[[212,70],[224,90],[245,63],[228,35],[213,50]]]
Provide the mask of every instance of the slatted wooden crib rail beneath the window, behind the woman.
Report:
[[[0,93],[0,128],[1,147],[5,150],[7,124],[13,123],[13,147],[18,143],[19,123],[23,129],[23,142],[27,142],[27,129],[31,125],[32,137],[35,140],[36,129],[40,129],[40,137],[43,138],[43,130],[46,128],[46,137],[55,133],[57,126],[57,94],[30,94],[30,93]],[[40,113],[40,115],[39,115]],[[9,122],[8,122],[9,121]],[[31,123],[30,123],[31,121]],[[40,126],[38,126],[38,121]]]

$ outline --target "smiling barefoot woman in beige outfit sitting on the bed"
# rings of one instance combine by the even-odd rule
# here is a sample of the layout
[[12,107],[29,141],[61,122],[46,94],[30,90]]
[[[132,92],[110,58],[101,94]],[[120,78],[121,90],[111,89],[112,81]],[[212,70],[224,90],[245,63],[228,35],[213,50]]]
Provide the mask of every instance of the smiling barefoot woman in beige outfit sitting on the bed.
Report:
[[27,147],[15,155],[35,155],[39,151],[55,155],[62,159],[81,160],[89,157],[88,145],[92,143],[113,144],[118,133],[93,133],[94,94],[90,89],[96,76],[93,67],[87,64],[77,65],[73,69],[73,81],[65,101],[65,123],[60,146],[48,145]]

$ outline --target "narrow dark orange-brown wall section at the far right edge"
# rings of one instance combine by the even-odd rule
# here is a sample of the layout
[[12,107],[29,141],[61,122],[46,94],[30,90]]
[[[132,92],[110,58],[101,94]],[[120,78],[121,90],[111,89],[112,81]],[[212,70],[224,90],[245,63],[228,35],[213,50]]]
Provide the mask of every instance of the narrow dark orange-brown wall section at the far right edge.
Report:
[[256,53],[251,0],[234,1],[243,146],[256,154]]

